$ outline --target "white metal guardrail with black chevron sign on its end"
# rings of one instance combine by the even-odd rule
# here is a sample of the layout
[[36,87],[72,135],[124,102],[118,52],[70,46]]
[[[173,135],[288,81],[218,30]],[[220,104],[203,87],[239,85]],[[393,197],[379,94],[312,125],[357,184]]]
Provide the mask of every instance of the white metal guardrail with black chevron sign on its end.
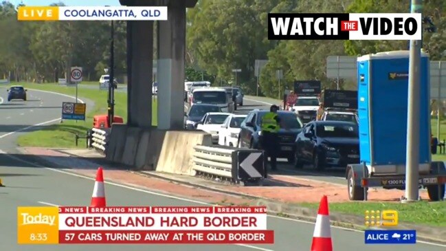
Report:
[[252,149],[194,146],[192,169],[199,175],[231,182],[261,182],[265,176],[265,155]]

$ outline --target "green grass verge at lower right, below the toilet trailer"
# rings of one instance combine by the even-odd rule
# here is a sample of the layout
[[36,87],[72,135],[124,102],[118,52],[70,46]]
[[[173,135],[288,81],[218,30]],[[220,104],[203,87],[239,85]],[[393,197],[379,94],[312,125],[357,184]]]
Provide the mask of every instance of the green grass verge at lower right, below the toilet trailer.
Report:
[[[299,204],[307,208],[317,208],[319,204]],[[331,212],[364,216],[366,210],[397,210],[399,221],[424,226],[446,227],[446,201],[419,201],[413,204],[397,202],[343,202],[331,203]]]

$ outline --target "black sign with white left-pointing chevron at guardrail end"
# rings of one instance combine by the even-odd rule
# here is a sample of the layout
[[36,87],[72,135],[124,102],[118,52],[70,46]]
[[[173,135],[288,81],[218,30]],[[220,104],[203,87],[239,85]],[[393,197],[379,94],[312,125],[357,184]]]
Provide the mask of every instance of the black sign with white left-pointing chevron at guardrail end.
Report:
[[265,160],[263,151],[236,151],[238,179],[260,179],[265,176]]

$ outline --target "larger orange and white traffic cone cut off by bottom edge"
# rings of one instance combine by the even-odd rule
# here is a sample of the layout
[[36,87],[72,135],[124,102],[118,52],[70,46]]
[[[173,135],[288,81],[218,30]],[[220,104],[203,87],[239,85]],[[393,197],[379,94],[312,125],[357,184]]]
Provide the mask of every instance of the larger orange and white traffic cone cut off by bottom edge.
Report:
[[313,232],[313,243],[311,251],[333,251],[331,243],[330,213],[328,212],[328,199],[326,195],[322,197],[317,212],[316,224]]

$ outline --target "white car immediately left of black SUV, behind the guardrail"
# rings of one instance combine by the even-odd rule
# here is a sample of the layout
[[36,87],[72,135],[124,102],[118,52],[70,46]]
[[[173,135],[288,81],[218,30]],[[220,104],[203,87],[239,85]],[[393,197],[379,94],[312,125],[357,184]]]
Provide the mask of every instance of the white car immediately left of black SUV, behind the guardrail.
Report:
[[240,125],[245,120],[247,114],[231,114],[221,125],[219,130],[219,145],[221,146],[237,146],[238,133],[240,133]]

